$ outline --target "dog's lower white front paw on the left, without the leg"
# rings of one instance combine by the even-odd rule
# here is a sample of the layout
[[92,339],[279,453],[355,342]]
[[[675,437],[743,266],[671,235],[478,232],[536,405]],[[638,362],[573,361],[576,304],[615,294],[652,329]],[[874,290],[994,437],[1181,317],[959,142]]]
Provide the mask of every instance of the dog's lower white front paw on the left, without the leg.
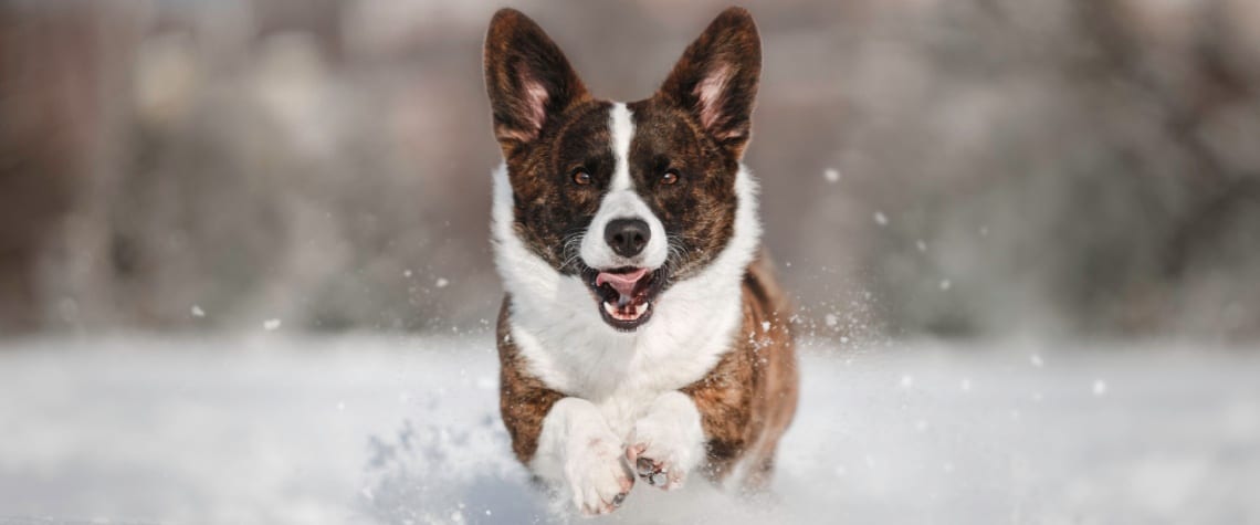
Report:
[[588,516],[612,512],[634,486],[634,475],[622,460],[621,442],[611,433],[571,443],[564,477],[573,505]]

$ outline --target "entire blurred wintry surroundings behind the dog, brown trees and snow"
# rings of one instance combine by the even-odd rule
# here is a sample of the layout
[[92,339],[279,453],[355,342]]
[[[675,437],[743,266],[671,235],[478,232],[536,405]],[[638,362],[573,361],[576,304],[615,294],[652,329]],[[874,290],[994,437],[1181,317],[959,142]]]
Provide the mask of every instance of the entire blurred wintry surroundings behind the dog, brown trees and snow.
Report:
[[[0,522],[567,522],[498,414],[501,3],[0,0]],[[512,4],[614,99],[726,6]],[[612,519],[1260,522],[1260,1],[746,5],[800,412],[775,504]]]

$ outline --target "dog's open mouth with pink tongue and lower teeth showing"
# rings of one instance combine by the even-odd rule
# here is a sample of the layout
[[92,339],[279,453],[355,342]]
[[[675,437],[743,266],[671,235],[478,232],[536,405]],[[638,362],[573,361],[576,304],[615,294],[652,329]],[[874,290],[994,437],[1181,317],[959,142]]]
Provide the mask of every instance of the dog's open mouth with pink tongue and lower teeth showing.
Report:
[[634,331],[651,317],[651,301],[664,278],[659,269],[614,268],[583,272],[598,302],[604,321],[621,331]]

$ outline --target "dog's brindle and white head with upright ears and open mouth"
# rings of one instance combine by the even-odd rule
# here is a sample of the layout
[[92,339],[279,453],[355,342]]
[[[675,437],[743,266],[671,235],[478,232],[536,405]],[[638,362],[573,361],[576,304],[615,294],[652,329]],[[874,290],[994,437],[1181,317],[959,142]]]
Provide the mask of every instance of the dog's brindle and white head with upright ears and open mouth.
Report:
[[525,15],[504,9],[490,21],[485,81],[513,233],[582,279],[614,329],[646,322],[658,296],[703,272],[735,235],[760,69],[752,16],[731,8],[655,94],[615,103],[592,97]]

